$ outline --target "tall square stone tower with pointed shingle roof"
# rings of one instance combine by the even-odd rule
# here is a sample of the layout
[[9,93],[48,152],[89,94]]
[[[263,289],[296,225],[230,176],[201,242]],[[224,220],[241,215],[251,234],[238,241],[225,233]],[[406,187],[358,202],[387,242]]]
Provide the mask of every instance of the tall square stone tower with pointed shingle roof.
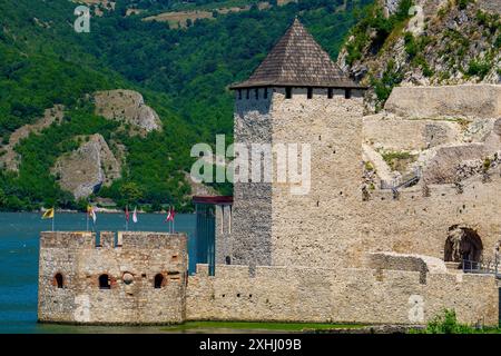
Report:
[[[311,148],[311,187],[273,179],[250,168],[234,185],[232,248],[225,260],[249,266],[346,265],[358,246],[362,116],[365,88],[350,80],[296,19],[252,77],[236,92],[235,142]],[[284,146],[282,146],[284,147]],[[249,159],[253,158],[249,147]],[[263,155],[259,156],[264,161]],[[252,164],[249,164],[249,167]],[[256,168],[257,169],[257,168]],[[288,176],[288,175],[287,175]],[[218,248],[218,247],[216,247]]]

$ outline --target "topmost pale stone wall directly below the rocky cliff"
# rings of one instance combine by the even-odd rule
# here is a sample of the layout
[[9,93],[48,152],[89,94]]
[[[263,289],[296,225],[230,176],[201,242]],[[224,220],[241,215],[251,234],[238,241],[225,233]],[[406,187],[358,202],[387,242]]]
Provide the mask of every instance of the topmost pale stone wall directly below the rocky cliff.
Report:
[[501,116],[501,86],[396,87],[385,110],[405,118]]

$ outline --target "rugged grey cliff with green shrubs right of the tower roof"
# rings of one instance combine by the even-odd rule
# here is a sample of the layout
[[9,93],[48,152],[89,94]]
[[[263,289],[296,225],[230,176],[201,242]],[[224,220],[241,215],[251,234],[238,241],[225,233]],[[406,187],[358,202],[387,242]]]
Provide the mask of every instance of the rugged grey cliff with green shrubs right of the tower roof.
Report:
[[352,30],[338,65],[374,88],[501,82],[499,0],[380,0]]

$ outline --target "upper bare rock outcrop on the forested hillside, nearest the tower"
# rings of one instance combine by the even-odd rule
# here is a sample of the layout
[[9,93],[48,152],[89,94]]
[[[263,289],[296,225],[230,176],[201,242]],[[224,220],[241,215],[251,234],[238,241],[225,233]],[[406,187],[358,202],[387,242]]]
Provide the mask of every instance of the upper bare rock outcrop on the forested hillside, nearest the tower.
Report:
[[97,115],[130,125],[131,134],[145,135],[161,130],[157,112],[145,105],[143,96],[137,91],[124,89],[98,91],[94,99]]

